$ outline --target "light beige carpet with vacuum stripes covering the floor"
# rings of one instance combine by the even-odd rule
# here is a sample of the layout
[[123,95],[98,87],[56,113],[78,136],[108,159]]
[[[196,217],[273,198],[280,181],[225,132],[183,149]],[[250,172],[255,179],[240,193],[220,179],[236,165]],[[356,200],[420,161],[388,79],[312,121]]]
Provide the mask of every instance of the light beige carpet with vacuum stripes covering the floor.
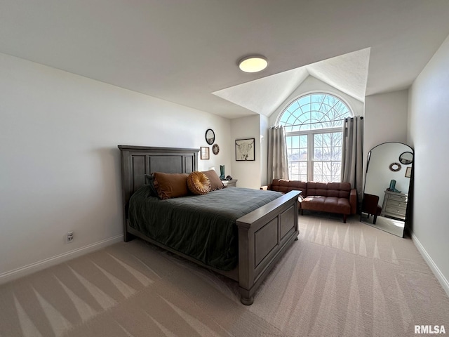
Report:
[[[0,286],[0,336],[413,336],[449,330],[449,299],[410,239],[300,216],[242,305],[238,286],[138,239]],[[449,331],[448,331],[449,332]]]

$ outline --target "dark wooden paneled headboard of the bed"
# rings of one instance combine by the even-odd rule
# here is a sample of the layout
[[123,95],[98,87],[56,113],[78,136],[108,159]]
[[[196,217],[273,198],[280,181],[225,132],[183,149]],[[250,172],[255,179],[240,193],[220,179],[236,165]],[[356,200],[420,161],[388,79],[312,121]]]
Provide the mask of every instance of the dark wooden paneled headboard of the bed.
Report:
[[[140,186],[145,174],[154,172],[190,173],[198,167],[198,149],[119,145],[121,151],[121,195],[123,226],[126,233],[128,201]],[[125,241],[127,241],[125,237]]]

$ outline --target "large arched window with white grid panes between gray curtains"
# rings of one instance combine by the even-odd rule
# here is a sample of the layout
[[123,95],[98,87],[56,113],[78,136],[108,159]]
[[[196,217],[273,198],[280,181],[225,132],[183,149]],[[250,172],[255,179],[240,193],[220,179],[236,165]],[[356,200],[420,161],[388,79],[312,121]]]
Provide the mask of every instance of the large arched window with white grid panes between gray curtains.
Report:
[[351,116],[328,93],[304,95],[281,112],[277,124],[286,128],[290,179],[340,182],[344,118]]

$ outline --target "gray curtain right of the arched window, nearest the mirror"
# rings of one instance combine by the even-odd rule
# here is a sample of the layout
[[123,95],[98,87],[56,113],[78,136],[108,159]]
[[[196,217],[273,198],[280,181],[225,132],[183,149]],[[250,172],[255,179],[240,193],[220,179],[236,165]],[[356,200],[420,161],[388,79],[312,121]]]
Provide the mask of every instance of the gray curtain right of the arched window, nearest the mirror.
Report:
[[342,182],[351,183],[357,199],[363,199],[363,117],[344,119],[342,143]]

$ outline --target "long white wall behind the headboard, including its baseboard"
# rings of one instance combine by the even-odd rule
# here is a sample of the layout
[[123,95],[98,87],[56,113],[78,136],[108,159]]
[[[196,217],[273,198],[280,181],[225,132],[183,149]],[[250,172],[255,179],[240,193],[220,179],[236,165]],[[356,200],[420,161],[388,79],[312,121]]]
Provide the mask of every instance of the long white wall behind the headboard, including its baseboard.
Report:
[[1,53],[0,117],[0,282],[121,239],[117,145],[234,155],[228,119]]

